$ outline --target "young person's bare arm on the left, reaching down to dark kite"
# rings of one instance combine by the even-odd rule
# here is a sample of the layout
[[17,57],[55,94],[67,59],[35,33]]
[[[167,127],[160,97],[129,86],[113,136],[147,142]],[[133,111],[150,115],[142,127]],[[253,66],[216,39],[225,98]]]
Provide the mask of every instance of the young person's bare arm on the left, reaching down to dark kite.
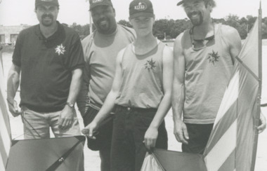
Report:
[[117,95],[119,94],[119,88],[122,84],[122,56],[124,54],[124,49],[119,52],[117,55],[116,60],[116,70],[115,70],[115,77],[112,83],[112,88],[110,90],[110,93],[108,93],[108,96],[105,99],[105,102],[103,106],[101,107],[100,111],[96,115],[96,118],[93,119],[93,121],[82,130],[82,133],[84,135],[88,135],[90,138],[95,139],[96,137],[93,137],[93,132],[98,129],[99,123],[101,123],[112,111],[113,107],[115,107],[115,100],[117,98]]

